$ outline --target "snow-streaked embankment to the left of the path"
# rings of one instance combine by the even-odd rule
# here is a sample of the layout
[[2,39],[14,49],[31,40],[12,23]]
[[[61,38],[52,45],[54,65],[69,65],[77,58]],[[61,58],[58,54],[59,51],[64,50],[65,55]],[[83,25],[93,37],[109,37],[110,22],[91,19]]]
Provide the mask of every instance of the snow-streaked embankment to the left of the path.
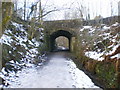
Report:
[[[5,85],[15,80],[16,70],[20,70],[23,67],[34,67],[32,62],[37,58],[38,47],[42,44],[36,38],[29,40],[29,34],[22,24],[11,21],[10,26],[14,26],[14,28],[6,29],[0,38],[0,44],[3,44],[4,48],[7,47],[4,50],[6,52],[3,54],[9,60],[5,62],[6,67],[3,67],[0,72],[0,78],[5,80]],[[39,30],[42,30],[42,28]],[[40,37],[43,38],[43,35],[40,35]]]

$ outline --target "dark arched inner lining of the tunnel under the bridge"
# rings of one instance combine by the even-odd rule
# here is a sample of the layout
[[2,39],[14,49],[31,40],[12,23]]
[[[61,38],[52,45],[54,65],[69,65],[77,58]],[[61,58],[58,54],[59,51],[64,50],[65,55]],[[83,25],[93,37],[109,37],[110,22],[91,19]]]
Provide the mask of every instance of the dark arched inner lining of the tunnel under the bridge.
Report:
[[50,51],[54,51],[56,49],[55,39],[60,36],[64,36],[64,37],[68,38],[68,41],[69,41],[68,50],[70,51],[72,34],[68,31],[64,31],[64,30],[56,31],[50,35]]

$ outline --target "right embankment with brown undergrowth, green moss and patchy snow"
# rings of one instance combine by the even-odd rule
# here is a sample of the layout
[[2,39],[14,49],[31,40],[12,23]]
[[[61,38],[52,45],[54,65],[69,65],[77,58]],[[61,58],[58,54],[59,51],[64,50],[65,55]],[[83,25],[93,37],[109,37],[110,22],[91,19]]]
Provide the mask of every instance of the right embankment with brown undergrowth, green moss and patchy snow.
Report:
[[[97,28],[96,26],[88,26],[87,28],[82,28],[79,33],[79,40],[76,41],[74,47],[81,46],[82,49],[75,49],[74,52],[77,58],[79,58],[79,63],[93,75],[96,75],[102,82],[105,87],[108,88],[117,88],[118,85],[118,72],[116,68],[118,67],[117,62],[119,58],[111,58],[114,55],[120,53],[119,47],[116,48],[111,54],[110,53],[115,46],[119,46],[119,24],[117,26],[109,26],[109,29],[103,30],[101,25]],[[114,29],[114,30],[113,30]],[[114,34],[113,34],[114,33]],[[103,58],[98,61],[97,59],[91,59],[86,57],[85,52],[97,52],[101,53],[99,58]],[[80,53],[82,52],[82,53]],[[89,56],[91,54],[89,53]],[[94,57],[98,57],[95,56]],[[118,69],[117,69],[118,70]]]

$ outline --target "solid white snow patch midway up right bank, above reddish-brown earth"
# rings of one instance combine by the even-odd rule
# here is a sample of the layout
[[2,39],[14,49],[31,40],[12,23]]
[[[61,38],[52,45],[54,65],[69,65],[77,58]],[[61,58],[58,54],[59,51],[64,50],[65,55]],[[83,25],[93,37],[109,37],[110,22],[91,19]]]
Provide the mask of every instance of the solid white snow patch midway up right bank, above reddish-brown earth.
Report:
[[88,51],[88,52],[85,52],[85,55],[87,57],[90,57],[94,60],[98,60],[98,61],[102,61],[104,58],[101,57],[103,55],[103,53],[97,53],[95,51]]

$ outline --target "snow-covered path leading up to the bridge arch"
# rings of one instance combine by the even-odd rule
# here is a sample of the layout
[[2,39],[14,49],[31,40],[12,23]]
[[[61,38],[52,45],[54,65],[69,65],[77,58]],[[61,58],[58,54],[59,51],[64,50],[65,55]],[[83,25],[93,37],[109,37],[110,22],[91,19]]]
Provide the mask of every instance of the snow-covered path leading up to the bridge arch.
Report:
[[23,69],[11,82],[13,88],[99,88],[72,60],[55,53],[43,67]]

